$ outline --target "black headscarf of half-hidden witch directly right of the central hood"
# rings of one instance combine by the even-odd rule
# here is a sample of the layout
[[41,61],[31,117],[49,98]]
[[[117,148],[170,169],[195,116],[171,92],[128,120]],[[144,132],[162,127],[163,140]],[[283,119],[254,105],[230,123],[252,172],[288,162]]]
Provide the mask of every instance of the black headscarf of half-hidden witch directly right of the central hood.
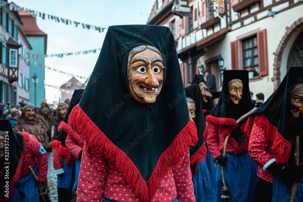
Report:
[[197,127],[198,142],[195,146],[191,146],[189,149],[190,156],[194,155],[198,149],[203,145],[203,133],[205,131],[205,117],[202,111],[202,98],[201,91],[197,84],[190,85],[184,88],[186,97],[189,97],[195,101],[196,106],[196,118],[195,124]]

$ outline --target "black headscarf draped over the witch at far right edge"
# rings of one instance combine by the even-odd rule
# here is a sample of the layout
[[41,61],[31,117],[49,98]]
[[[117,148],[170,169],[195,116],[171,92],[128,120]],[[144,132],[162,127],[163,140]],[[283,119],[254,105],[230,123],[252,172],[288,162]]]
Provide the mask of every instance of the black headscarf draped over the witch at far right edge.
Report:
[[[277,127],[278,133],[291,143],[291,153],[293,153],[295,148],[296,135],[303,134],[303,131],[300,133],[296,130],[295,126],[295,121],[303,121],[302,114],[297,120],[291,121],[292,114],[290,110],[291,93],[295,86],[301,83],[303,83],[303,67],[291,67],[278,89],[251,115],[264,114],[268,118],[269,123]],[[299,143],[303,143],[301,138]],[[303,154],[303,144],[300,144],[299,153]],[[294,155],[290,155],[291,161],[293,160],[293,156]],[[303,155],[299,155],[299,158],[301,163],[303,161]]]

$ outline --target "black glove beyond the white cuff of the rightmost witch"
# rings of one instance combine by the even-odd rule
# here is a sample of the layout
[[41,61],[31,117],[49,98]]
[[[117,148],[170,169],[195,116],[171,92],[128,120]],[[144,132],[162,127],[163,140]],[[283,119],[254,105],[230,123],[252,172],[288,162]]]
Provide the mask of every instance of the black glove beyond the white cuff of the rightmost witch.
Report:
[[297,165],[276,164],[274,162],[266,170],[283,180],[291,182],[299,182],[303,177],[303,168]]

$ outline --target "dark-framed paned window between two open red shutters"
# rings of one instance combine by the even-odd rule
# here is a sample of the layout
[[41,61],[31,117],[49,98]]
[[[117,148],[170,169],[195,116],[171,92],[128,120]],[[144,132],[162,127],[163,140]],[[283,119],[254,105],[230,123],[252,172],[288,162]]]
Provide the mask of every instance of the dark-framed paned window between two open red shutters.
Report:
[[257,36],[243,41],[243,61],[245,70],[254,72],[254,76],[259,75]]

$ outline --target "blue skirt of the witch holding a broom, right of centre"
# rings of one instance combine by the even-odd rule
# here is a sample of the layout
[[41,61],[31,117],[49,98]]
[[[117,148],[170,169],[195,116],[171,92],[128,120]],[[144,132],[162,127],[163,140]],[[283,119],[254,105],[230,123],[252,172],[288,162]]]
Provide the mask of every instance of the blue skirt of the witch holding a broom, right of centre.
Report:
[[[223,152],[222,152],[223,154]],[[258,165],[249,157],[248,152],[226,154],[228,157],[223,167],[226,187],[228,188],[228,201],[230,202],[253,202],[255,186],[257,183]],[[221,165],[216,167],[215,201],[221,202],[221,191],[223,187]]]

